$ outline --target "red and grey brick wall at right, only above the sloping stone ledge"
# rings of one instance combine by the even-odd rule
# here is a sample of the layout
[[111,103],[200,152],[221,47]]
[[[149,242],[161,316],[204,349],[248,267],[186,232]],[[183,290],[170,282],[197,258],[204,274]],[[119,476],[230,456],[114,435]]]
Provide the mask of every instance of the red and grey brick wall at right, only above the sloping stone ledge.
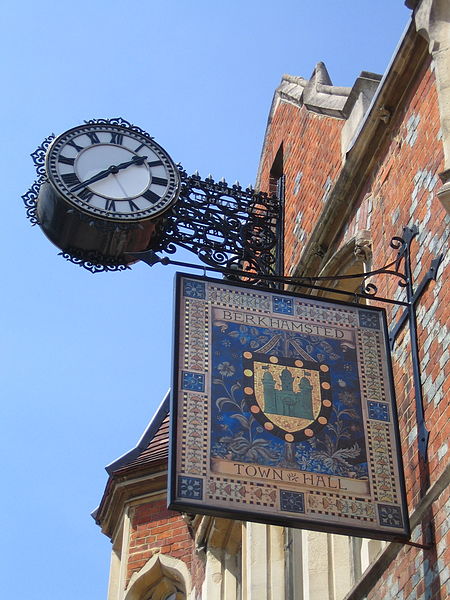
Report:
[[[436,195],[440,187],[438,173],[443,170],[439,128],[434,74],[428,65],[411,91],[397,122],[393,123],[390,144],[371,174],[371,181],[341,238],[345,242],[358,229],[369,229],[376,268],[395,258],[395,251],[389,247],[391,238],[401,235],[403,226],[417,225],[419,236],[412,245],[412,270],[417,283],[437,254],[448,253],[449,217]],[[431,483],[442,474],[445,467],[446,444],[450,438],[450,295],[445,285],[448,275],[447,255],[440,267],[438,281],[429,285],[417,306],[425,419],[430,430]],[[404,291],[393,277],[377,277],[376,284],[381,296],[404,297]],[[398,307],[389,308],[388,322],[393,322],[401,311]],[[393,359],[408,504],[411,509],[420,498],[420,477],[407,327],[397,341]]]

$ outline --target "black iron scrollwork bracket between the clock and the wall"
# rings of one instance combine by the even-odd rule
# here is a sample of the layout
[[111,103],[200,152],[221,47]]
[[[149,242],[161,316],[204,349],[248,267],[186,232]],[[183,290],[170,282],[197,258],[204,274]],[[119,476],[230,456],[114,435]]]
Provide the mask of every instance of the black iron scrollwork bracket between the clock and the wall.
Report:
[[249,283],[256,283],[258,275],[275,275],[279,199],[239,183],[229,186],[211,176],[188,176],[181,167],[180,173],[180,198],[152,249],[173,254],[184,248],[210,267],[244,272]]

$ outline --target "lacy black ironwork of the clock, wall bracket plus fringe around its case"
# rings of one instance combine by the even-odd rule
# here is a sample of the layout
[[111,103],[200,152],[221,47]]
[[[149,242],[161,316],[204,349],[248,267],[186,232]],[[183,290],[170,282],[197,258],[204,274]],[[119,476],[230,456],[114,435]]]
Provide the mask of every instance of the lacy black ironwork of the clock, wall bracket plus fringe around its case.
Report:
[[[37,180],[22,196],[33,225],[39,224],[37,201],[46,181],[45,153],[53,138],[54,135],[48,137],[32,154]],[[149,250],[170,255],[179,247],[195,253],[210,267],[245,268],[254,275],[279,273],[283,264],[282,201],[276,195],[255,192],[251,186],[244,189],[239,182],[216,182],[210,175],[201,179],[198,173],[189,176],[181,165],[178,168],[180,197],[159,222]],[[105,227],[111,224],[105,222]],[[125,256],[96,256],[94,252],[82,253],[72,248],[60,254],[92,273],[128,268]]]

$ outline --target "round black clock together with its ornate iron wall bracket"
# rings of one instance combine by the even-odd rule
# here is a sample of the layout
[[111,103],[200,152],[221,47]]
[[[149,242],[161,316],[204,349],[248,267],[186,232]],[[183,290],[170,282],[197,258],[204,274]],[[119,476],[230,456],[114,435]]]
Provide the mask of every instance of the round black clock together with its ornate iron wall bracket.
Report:
[[92,272],[126,269],[147,250],[194,252],[205,264],[275,274],[276,196],[188,176],[142,129],[99,119],[51,136],[32,155],[27,216],[62,255]]

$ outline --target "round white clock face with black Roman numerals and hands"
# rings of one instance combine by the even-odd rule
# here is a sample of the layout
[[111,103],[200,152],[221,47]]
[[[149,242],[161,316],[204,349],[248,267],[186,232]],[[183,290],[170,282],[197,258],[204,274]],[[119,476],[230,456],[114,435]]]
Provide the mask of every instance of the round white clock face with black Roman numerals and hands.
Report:
[[110,123],[88,123],[57,137],[47,152],[46,172],[68,202],[121,222],[156,217],[180,189],[178,169],[161,146]]

